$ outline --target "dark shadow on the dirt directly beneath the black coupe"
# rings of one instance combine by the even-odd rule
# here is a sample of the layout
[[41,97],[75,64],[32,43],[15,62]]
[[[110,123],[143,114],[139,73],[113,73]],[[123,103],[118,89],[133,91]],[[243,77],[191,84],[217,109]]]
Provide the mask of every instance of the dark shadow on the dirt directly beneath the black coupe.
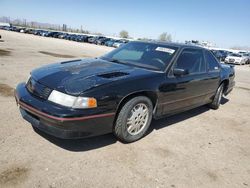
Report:
[[[221,104],[224,105],[229,100],[226,98],[222,98]],[[200,115],[209,111],[210,108],[207,106],[201,106],[186,112],[182,112],[180,114],[172,115],[166,118],[162,118],[159,120],[153,120],[152,124],[149,128],[149,131],[146,135],[150,134],[154,130],[159,130],[168,126],[173,126],[178,122],[183,120],[192,118],[194,116]],[[106,134],[91,138],[83,138],[83,139],[61,139],[49,134],[46,134],[36,128],[34,128],[35,132],[50,141],[51,143],[61,147],[63,149],[73,151],[73,152],[81,152],[81,151],[89,151],[98,148],[102,148],[111,144],[115,144],[118,142],[117,138],[113,134]]]

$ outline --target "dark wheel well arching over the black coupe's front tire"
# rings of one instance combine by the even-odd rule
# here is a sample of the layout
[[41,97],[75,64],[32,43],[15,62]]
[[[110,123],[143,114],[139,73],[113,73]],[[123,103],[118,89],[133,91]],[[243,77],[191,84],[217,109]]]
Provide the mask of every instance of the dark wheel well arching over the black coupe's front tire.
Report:
[[114,123],[116,121],[116,118],[117,118],[117,116],[118,116],[121,108],[124,106],[124,104],[126,102],[128,102],[130,99],[132,99],[134,97],[138,97],[138,96],[148,97],[151,100],[152,104],[153,104],[153,109],[155,108],[156,103],[157,103],[157,95],[155,94],[155,92],[152,92],[152,91],[141,91],[141,92],[136,92],[136,93],[129,94],[126,97],[124,97],[121,100],[121,102],[118,104],[118,108],[116,109],[116,115],[115,115]]

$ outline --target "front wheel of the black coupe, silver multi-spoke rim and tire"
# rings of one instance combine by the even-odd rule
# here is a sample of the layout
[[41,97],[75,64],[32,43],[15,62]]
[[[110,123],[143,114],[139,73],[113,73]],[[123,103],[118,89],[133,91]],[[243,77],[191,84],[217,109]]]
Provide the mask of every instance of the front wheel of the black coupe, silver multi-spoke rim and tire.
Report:
[[123,142],[142,138],[152,121],[153,104],[144,96],[129,100],[120,110],[114,126],[114,135]]

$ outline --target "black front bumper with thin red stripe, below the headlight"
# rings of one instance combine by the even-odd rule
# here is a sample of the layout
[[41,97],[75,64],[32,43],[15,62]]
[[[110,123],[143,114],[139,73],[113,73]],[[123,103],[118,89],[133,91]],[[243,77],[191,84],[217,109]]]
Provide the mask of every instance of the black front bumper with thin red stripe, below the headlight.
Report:
[[22,117],[33,127],[59,138],[84,138],[112,132],[115,113],[110,109],[72,109],[30,94],[24,83],[15,90]]

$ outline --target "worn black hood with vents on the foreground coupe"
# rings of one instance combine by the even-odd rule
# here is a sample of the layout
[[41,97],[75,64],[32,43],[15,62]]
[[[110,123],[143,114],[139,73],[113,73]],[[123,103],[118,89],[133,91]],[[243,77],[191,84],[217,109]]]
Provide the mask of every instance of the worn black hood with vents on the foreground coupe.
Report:
[[102,59],[82,59],[51,64],[31,72],[37,82],[70,95],[81,93],[150,70],[117,64]]

